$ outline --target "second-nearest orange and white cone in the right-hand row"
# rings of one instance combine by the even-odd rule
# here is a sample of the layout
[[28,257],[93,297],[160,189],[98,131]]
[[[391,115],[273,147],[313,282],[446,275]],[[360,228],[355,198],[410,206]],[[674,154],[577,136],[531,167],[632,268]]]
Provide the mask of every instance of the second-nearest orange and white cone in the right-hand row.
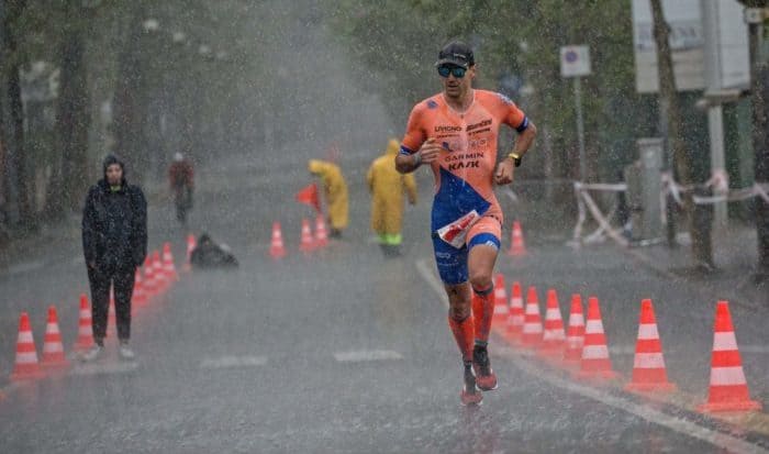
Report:
[[638,341],[635,344],[633,379],[625,386],[631,391],[672,391],[676,385],[668,381],[662,356],[662,343],[657,331],[657,320],[650,299],[640,301]]

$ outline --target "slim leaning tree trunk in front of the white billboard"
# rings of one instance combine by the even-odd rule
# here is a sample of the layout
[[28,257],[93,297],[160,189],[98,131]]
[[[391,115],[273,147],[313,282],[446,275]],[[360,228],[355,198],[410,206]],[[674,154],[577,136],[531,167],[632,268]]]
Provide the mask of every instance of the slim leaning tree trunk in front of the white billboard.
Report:
[[[660,106],[668,109],[668,147],[672,153],[676,174],[681,185],[692,185],[691,153],[686,150],[681,136],[683,119],[678,106],[676,90],[676,77],[672,66],[672,53],[670,49],[670,27],[665,21],[661,0],[651,0],[651,15],[654,20],[654,37],[657,45],[657,64],[659,70],[659,97]],[[692,254],[694,264],[704,269],[713,268],[713,251],[711,243],[710,207],[694,204],[691,192],[684,195],[684,210],[689,214],[689,233],[692,239]]]

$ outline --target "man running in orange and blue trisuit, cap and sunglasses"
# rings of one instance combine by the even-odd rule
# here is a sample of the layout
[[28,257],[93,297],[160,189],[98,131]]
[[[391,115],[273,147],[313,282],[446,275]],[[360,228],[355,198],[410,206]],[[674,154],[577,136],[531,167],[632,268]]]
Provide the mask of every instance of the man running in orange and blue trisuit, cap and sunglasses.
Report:
[[[513,168],[521,165],[536,136],[534,123],[510,99],[472,88],[475,64],[465,43],[455,41],[441,51],[435,66],[443,92],[412,109],[395,158],[400,173],[428,164],[435,176],[431,231],[448,295],[448,324],[465,366],[462,405],[480,405],[478,388],[497,388],[487,345],[503,218],[493,186],[512,182]],[[515,129],[519,137],[513,151],[497,164],[501,124]]]

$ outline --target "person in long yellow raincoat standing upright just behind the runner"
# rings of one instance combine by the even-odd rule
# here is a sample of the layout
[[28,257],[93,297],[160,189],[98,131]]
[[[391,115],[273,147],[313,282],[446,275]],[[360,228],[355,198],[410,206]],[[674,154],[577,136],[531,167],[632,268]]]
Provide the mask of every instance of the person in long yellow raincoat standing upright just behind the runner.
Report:
[[371,192],[371,229],[379,235],[379,245],[386,256],[400,254],[404,189],[409,203],[416,204],[414,175],[395,170],[400,146],[398,140],[391,139],[384,154],[374,159],[366,175]]

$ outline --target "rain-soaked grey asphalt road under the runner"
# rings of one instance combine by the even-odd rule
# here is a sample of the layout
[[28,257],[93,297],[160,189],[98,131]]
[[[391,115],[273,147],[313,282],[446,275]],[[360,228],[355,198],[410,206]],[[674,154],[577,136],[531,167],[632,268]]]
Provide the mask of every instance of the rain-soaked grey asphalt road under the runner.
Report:
[[[294,187],[309,180],[303,169],[255,178],[248,166],[221,166],[201,175],[200,187],[208,189],[201,189],[192,224],[233,246],[241,268],[185,276],[138,312],[135,364],[121,363],[108,341],[109,354],[94,366],[5,388],[0,451],[704,453],[732,446],[726,435],[706,442],[650,422],[622,401],[606,405],[544,379],[546,369],[516,364],[521,359],[501,342],[492,346],[500,389],[480,408],[461,407],[461,365],[446,309],[416,265],[426,261],[433,269],[423,235],[428,186],[421,187],[422,204],[406,214],[406,254],[386,259],[369,240],[363,174],[350,170],[350,231],[304,256],[297,251],[299,219],[309,212],[292,201]],[[276,184],[286,184],[286,191],[271,192]],[[185,232],[165,206],[151,213],[153,245],[172,240],[179,257]],[[274,220],[283,223],[289,247],[277,263],[267,256]],[[530,252],[520,262],[502,258],[500,270],[525,285],[558,288],[565,315],[571,291],[597,294],[610,346],[620,346],[612,359],[624,374],[632,355],[622,348],[635,340],[637,301],[659,301],[671,379],[704,398],[713,314],[696,289],[660,283],[611,247],[577,254],[533,233]],[[60,251],[58,261],[2,279],[3,294],[15,296],[13,309],[31,309],[38,351],[37,320],[47,306],[35,303],[46,299],[38,295],[68,296],[69,307],[60,309],[65,345],[75,339],[71,296],[85,288],[76,254],[76,247]],[[747,311],[735,308],[734,317],[740,344],[769,344]],[[3,324],[15,330],[14,320]],[[3,344],[3,366],[12,352]],[[766,402],[766,355],[744,354],[744,361],[753,395]],[[3,367],[3,383],[9,372]]]

